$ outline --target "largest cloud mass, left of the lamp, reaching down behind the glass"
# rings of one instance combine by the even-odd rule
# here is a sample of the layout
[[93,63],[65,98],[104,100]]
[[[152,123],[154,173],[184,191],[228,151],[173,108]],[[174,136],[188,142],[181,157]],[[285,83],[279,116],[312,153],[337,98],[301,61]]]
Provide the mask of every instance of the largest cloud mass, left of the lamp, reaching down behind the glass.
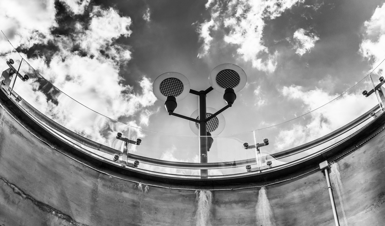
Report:
[[[136,81],[138,91],[134,91],[133,84],[125,85],[119,76],[120,68],[131,59],[131,52],[129,46],[117,42],[117,39],[131,35],[131,18],[120,16],[113,8],[91,6],[89,1],[65,1],[65,6],[69,11],[60,13],[69,13],[71,17],[88,10],[90,17],[86,20],[71,17],[70,23],[65,25],[53,20],[41,30],[35,27],[32,35],[16,33],[14,40],[18,40],[16,47],[25,52],[21,53],[23,58],[68,96],[42,80],[26,63],[20,70],[30,75],[30,79],[18,81],[15,91],[66,128],[99,143],[112,145],[117,132],[127,133],[129,129],[128,125],[112,119],[130,117],[127,123],[137,126],[134,118],[143,113],[137,118],[142,125],[148,125],[154,112],[146,107],[156,101],[152,82],[145,75]],[[23,8],[23,4],[18,7]],[[51,34],[63,26],[72,26],[71,32]],[[30,31],[27,27],[28,24],[20,23],[16,28]],[[9,58],[10,50],[3,51],[2,58]]]

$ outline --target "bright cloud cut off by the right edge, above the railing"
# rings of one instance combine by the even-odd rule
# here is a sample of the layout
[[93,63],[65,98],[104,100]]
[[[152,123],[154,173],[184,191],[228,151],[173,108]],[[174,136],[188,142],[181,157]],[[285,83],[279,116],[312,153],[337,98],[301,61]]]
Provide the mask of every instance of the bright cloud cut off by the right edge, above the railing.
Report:
[[[372,60],[375,68],[385,58],[385,3],[377,7],[370,20],[365,22],[365,38],[360,45],[360,53],[363,57]],[[383,70],[382,64],[378,69]]]

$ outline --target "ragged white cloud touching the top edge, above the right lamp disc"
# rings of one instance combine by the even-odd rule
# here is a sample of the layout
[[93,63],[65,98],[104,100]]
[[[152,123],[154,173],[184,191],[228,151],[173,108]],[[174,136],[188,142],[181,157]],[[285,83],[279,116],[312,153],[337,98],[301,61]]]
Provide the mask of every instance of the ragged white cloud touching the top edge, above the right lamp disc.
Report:
[[[266,20],[279,17],[288,8],[303,0],[209,0],[211,20],[201,23],[198,33],[203,40],[199,57],[209,53],[214,37],[220,37],[229,45],[237,47],[237,53],[244,61],[250,61],[254,68],[273,72],[278,53],[271,53],[263,42]],[[222,29],[219,29],[222,28]]]

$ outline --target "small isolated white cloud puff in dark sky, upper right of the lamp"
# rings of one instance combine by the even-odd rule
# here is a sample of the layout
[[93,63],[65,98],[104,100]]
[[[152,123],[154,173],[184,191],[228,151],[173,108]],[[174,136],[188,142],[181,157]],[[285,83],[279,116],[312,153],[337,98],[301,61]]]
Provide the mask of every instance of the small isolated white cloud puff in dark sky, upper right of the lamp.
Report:
[[300,28],[294,32],[294,48],[298,55],[302,56],[306,52],[310,52],[312,48],[314,48],[315,43],[320,40],[314,33],[309,33],[309,31]]

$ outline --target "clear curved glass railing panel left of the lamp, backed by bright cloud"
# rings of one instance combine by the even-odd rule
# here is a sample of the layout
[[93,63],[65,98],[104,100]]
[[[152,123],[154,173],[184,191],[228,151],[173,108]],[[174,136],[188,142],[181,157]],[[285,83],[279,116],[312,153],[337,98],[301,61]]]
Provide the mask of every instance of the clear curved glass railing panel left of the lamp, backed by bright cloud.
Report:
[[26,81],[18,78],[13,88],[13,91],[30,105],[22,105],[25,110],[40,112],[52,122],[77,135],[121,150],[122,142],[116,139],[116,135],[120,132],[128,136],[129,125],[81,105],[45,80],[26,61],[23,61],[19,71],[29,77]]

